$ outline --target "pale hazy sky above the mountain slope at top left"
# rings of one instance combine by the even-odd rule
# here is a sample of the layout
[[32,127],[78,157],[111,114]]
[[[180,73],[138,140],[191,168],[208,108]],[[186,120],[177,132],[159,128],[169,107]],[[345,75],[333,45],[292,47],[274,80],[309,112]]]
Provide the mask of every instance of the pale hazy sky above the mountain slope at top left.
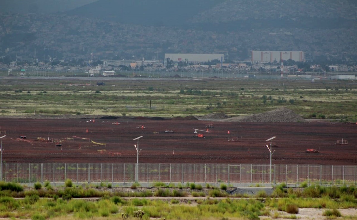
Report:
[[0,0],[0,12],[53,13],[66,11],[97,0]]

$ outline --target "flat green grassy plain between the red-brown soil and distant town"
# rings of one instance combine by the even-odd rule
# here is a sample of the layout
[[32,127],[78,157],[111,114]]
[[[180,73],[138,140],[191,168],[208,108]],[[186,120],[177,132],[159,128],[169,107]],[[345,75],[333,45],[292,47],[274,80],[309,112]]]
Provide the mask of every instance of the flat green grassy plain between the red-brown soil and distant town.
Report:
[[357,120],[351,81],[62,78],[2,79],[0,115],[238,116],[286,106],[306,119]]

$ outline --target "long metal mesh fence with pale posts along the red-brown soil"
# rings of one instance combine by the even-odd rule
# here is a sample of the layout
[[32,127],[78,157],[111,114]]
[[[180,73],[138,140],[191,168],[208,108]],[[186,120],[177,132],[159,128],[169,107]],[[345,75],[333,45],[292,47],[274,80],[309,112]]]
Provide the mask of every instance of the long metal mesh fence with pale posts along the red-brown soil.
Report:
[[[6,182],[135,182],[136,164],[6,163]],[[269,184],[269,164],[139,164],[139,182]],[[272,184],[356,184],[356,166],[273,164]]]

